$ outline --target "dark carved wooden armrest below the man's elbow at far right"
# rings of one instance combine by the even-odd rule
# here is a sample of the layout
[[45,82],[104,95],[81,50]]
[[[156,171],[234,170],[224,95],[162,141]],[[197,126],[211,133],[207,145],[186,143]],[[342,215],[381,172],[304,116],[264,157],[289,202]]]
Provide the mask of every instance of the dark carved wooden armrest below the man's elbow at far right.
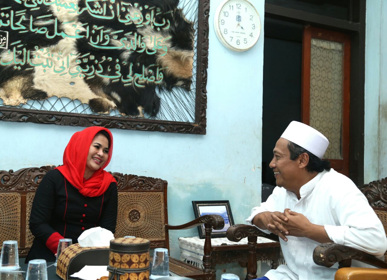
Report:
[[351,266],[351,260],[356,259],[368,265],[387,268],[387,263],[358,249],[336,243],[323,243],[313,251],[313,261],[317,265],[331,267],[339,263],[339,268]]

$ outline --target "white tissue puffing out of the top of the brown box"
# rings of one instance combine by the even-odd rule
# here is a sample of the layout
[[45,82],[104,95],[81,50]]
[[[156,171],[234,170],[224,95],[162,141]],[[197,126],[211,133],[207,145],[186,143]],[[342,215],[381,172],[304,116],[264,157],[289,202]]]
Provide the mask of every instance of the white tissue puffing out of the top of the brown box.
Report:
[[114,235],[110,230],[93,227],[82,232],[78,237],[80,247],[104,247],[110,246],[110,240]]

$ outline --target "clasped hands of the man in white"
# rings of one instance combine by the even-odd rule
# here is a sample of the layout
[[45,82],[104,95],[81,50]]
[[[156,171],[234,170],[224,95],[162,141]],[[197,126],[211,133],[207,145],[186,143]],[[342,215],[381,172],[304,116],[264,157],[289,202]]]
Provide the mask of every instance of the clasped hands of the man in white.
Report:
[[259,215],[261,225],[278,235],[283,240],[288,241],[286,235],[307,237],[308,230],[311,229],[312,223],[308,218],[300,213],[291,211],[286,208],[284,212],[262,212]]

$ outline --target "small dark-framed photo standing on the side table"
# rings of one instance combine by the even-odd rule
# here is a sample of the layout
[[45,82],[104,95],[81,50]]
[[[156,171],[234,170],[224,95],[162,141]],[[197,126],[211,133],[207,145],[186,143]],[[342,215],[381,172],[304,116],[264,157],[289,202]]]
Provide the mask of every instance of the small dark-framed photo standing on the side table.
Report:
[[[195,218],[203,215],[217,214],[224,219],[224,228],[221,230],[212,230],[211,238],[226,237],[227,229],[234,225],[233,214],[228,200],[207,200],[207,201],[192,201],[194,207]],[[205,238],[204,225],[197,227],[200,239]]]

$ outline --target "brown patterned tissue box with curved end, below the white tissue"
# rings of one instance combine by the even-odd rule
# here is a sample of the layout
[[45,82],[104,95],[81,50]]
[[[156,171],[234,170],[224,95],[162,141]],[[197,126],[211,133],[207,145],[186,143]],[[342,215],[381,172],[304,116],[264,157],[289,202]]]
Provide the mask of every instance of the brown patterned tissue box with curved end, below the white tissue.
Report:
[[108,265],[109,247],[80,247],[73,244],[62,251],[57,262],[57,275],[63,280],[77,279],[70,275],[85,265]]

